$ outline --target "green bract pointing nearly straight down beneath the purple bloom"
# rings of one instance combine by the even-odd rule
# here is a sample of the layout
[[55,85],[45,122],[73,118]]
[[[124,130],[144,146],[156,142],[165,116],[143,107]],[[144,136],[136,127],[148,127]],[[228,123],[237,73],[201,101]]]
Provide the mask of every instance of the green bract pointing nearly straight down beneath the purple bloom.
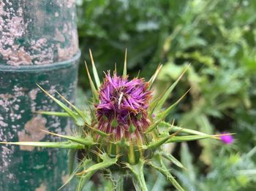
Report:
[[[125,163],[125,165],[132,171],[133,181],[136,180],[136,182],[134,182],[136,190],[148,191],[143,173],[144,163],[144,160],[140,159],[139,163],[136,165],[130,165],[129,163]],[[140,189],[138,189],[138,187],[140,187]]]

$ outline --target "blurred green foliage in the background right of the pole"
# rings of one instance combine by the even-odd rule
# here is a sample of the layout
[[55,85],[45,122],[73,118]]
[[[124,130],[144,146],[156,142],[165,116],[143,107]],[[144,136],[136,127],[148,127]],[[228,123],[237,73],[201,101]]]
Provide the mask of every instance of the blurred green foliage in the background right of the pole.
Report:
[[[203,140],[174,149],[187,170],[173,169],[187,190],[253,190],[256,187],[256,1],[77,0],[82,61],[89,48],[99,71],[128,69],[148,79],[161,62],[156,95],[191,63],[170,97],[189,95],[170,120],[206,133],[236,133],[233,145]],[[103,73],[101,73],[103,75]],[[83,64],[80,87],[88,87]],[[171,165],[171,168],[174,168]],[[162,175],[148,187],[167,190]],[[155,178],[156,183],[152,184]],[[171,188],[169,188],[171,189]]]

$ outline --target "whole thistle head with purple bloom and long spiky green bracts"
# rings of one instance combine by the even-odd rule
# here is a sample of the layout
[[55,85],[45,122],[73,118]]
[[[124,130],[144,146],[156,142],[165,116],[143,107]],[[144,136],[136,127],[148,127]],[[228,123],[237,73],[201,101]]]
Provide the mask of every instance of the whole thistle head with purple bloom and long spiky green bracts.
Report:
[[[2,142],[2,144],[29,145],[37,147],[56,147],[69,149],[70,177],[80,179],[77,190],[83,190],[83,186],[97,171],[108,171],[115,180],[118,174],[118,184],[124,176],[131,176],[136,190],[147,190],[143,174],[144,165],[151,166],[165,177],[177,190],[183,190],[176,179],[170,174],[163,158],[180,168],[184,166],[170,153],[163,152],[162,146],[167,143],[192,141],[198,139],[218,139],[218,135],[208,135],[197,130],[180,128],[168,122],[165,117],[178,104],[186,93],[174,104],[163,108],[174,87],[184,75],[184,69],[180,77],[173,83],[162,96],[152,97],[151,85],[157,78],[162,68],[159,65],[157,71],[148,82],[143,78],[129,79],[127,76],[127,51],[124,59],[124,71],[121,76],[113,71],[105,74],[103,82],[99,80],[94,59],[91,57],[94,81],[86,64],[86,71],[92,91],[91,111],[85,112],[71,104],[62,95],[63,102],[44,91],[53,101],[56,101],[64,112],[38,112],[39,114],[56,115],[59,117],[71,117],[78,126],[74,136],[59,135],[67,141],[64,142]],[[66,103],[66,104],[64,104]],[[178,133],[187,135],[178,136]],[[82,153],[80,163],[73,169],[73,163],[77,152]],[[66,185],[66,182],[64,185]],[[63,186],[64,186],[63,185]],[[114,187],[117,187],[114,186]],[[121,188],[121,187],[119,187]]]

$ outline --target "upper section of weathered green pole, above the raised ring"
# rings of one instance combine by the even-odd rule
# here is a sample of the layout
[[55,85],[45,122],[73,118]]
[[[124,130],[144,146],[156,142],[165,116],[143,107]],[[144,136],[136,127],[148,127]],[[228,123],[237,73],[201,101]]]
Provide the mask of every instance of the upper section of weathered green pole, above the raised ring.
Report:
[[1,0],[0,64],[42,65],[78,52],[75,0]]

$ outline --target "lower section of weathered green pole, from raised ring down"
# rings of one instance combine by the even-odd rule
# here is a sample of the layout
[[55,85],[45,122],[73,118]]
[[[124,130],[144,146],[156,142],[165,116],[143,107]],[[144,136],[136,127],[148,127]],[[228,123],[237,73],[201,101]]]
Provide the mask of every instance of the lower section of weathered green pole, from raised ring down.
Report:
[[[37,70],[10,71],[0,66],[0,140],[63,141],[41,129],[70,133],[66,118],[47,117],[35,111],[59,111],[59,106],[36,83],[56,95],[74,100],[79,54],[67,63],[39,66]],[[58,97],[58,96],[57,96]],[[67,178],[67,151],[34,147],[0,147],[2,190],[57,190]],[[0,189],[0,190],[1,190]]]

